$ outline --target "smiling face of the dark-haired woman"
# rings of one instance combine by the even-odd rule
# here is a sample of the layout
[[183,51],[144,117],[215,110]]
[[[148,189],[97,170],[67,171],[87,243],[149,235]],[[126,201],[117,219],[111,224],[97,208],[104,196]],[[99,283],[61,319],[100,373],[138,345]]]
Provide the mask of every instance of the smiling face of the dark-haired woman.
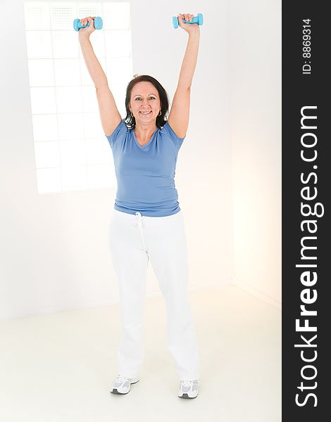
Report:
[[132,88],[129,108],[137,123],[156,122],[161,103],[158,90],[151,82],[138,82]]

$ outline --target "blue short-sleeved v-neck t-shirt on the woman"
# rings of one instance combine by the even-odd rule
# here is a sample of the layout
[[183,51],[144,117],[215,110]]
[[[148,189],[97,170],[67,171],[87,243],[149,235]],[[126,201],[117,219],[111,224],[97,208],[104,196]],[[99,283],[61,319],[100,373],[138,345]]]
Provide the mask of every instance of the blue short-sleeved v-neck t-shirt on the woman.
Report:
[[165,122],[141,146],[134,129],[123,120],[106,136],[113,151],[117,192],[115,210],[150,217],[164,217],[180,211],[175,188],[175,167],[182,142]]

